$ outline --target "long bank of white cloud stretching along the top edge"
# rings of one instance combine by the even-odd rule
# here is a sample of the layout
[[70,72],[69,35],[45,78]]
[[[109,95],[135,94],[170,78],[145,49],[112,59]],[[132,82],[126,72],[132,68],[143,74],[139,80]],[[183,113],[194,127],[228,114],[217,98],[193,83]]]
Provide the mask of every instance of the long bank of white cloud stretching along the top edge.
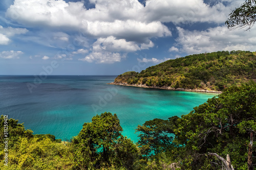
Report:
[[210,6],[203,0],[147,0],[144,7],[138,0],[90,2],[95,8],[87,9],[83,1],[15,0],[6,16],[30,27],[72,28],[97,38],[114,36],[139,42],[170,36],[171,32],[162,22],[223,23],[230,6],[241,3],[233,1],[229,2],[230,6],[224,6],[218,1]]

